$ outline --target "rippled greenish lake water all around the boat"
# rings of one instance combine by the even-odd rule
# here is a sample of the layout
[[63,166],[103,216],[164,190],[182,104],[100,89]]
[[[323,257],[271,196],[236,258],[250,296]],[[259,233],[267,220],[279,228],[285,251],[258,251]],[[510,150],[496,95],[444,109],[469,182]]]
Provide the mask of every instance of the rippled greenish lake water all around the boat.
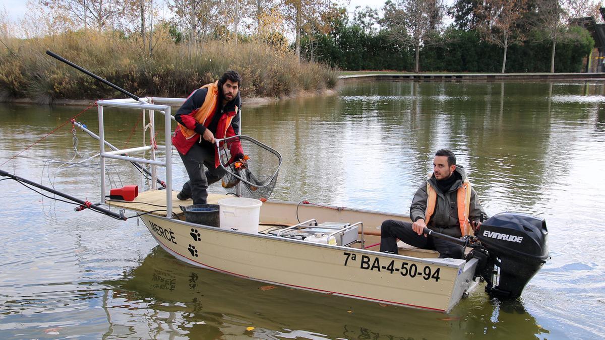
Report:
[[[83,109],[0,104],[0,163]],[[140,116],[106,110],[108,140],[140,145]],[[96,108],[77,120],[98,131]],[[244,106],[243,132],[283,155],[272,198],[402,214],[434,152],[451,148],[489,215],[546,219],[552,258],[517,301],[491,299],[479,286],[445,315],[196,269],[160,249],[135,220],[74,212],[5,180],[0,338],[605,336],[603,83],[354,83],[333,97]],[[0,168],[99,201],[94,163],[66,163],[94,155],[99,143],[77,131],[74,149],[73,137],[68,124]],[[173,157],[178,188],[186,172]],[[117,162],[110,171],[114,188],[140,183],[132,166]]]

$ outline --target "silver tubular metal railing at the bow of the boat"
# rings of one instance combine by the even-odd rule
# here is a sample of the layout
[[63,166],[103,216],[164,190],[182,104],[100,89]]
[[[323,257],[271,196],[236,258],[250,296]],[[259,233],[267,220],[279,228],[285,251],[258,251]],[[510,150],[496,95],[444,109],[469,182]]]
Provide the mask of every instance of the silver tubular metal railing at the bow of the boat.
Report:
[[[109,99],[109,100],[99,100],[97,101],[97,106],[99,108],[99,145],[100,145],[100,175],[101,175],[101,201],[105,201],[106,190],[105,190],[105,159],[117,159],[117,160],[126,160],[129,162],[137,162],[137,163],[146,163],[151,165],[151,177],[156,178],[156,167],[163,166],[166,168],[166,217],[172,218],[172,126],[171,120],[174,119],[171,114],[171,105],[181,105],[185,99],[183,98],[164,98],[164,97],[146,97],[140,98],[140,101],[136,101],[134,99]],[[145,103],[143,103],[145,102]],[[151,103],[150,103],[151,102]],[[161,104],[160,104],[161,103]],[[165,117],[164,119],[164,137],[165,137],[165,145],[157,145],[157,149],[165,150],[166,157],[165,160],[157,160],[155,158],[155,143],[152,143],[148,146],[139,146],[136,148],[128,148],[128,149],[117,149],[114,151],[105,151],[105,128],[104,128],[104,114],[103,108],[112,107],[112,108],[128,108],[128,109],[136,109],[143,110],[143,114],[145,111],[149,113],[149,126],[151,136],[155,136],[155,119],[154,114],[155,111],[162,113]],[[139,157],[131,157],[129,155],[123,155],[128,152],[135,151],[150,151],[150,159],[142,159]],[[151,189],[157,189],[157,183],[155,180],[151,181]]]

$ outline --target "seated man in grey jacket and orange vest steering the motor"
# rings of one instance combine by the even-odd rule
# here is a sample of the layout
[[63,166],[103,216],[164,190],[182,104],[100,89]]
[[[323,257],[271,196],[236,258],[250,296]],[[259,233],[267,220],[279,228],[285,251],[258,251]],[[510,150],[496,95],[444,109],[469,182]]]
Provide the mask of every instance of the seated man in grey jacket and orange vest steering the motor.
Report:
[[439,238],[423,235],[428,229],[462,237],[470,234],[470,228],[479,229],[485,212],[476,192],[466,179],[464,168],[456,165],[456,155],[448,149],[440,149],[433,160],[433,175],[414,195],[410,207],[413,223],[387,220],[381,226],[380,251],[397,253],[397,238],[410,246],[434,249],[439,258],[462,258],[464,247]]

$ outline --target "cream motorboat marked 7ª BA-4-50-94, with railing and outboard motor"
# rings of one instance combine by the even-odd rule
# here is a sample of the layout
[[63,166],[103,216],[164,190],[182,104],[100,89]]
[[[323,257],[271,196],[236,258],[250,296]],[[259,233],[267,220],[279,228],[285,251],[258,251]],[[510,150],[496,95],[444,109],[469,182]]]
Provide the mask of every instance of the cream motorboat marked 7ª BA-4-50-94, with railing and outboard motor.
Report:
[[[446,313],[474,289],[478,278],[488,281],[489,292],[516,298],[548,258],[545,221],[517,213],[499,214],[485,221],[478,237],[460,240],[433,233],[468,246],[471,255],[465,259],[437,258],[437,252],[416,249],[401,241],[398,255],[379,252],[379,243],[374,242],[379,241],[382,221],[409,221],[407,216],[386,212],[266,200],[251,227],[186,221],[180,206],[188,202],[178,200],[177,192],[172,191],[171,157],[160,160],[155,153],[172,149],[171,105],[183,100],[148,97],[147,102],[97,102],[101,197],[106,198],[105,158],[148,163],[153,168],[164,166],[166,188],[156,188],[157,183],[152,181],[151,189],[132,201],[104,202],[139,213],[155,241],[178,260],[269,284]],[[105,108],[148,110],[150,122],[154,122],[154,112],[164,114],[165,145],[106,152]],[[154,131],[152,126],[152,136]],[[151,151],[151,159],[126,155],[142,150]],[[155,170],[152,172],[155,175]],[[224,198],[227,195],[209,194],[208,203],[220,204]],[[324,234],[314,234],[318,231]],[[324,241],[309,241],[313,237]]]

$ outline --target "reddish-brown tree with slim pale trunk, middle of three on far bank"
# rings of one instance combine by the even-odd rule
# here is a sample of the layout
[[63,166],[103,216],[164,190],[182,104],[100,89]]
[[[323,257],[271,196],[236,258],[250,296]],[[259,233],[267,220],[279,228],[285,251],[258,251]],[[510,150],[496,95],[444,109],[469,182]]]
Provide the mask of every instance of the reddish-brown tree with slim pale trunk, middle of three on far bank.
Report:
[[477,31],[483,39],[504,49],[501,73],[506,70],[508,47],[525,39],[520,24],[526,12],[527,0],[484,0],[476,9],[477,16],[483,18]]

